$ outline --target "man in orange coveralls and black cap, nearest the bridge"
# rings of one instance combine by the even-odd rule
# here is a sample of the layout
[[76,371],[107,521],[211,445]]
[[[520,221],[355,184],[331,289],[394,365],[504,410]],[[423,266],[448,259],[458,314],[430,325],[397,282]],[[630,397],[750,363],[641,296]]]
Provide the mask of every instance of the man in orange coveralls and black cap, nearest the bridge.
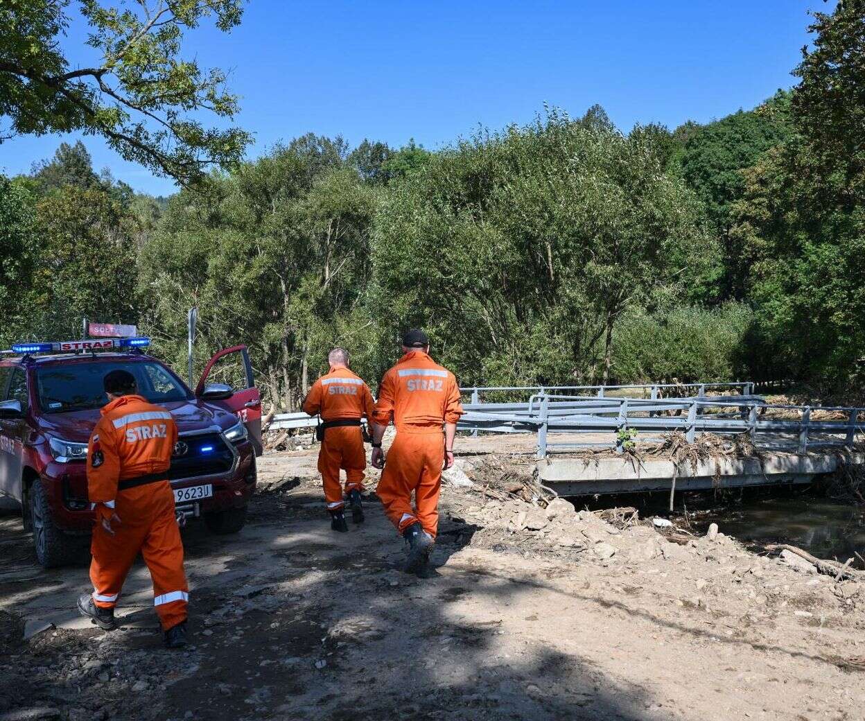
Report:
[[[402,352],[397,364],[381,379],[373,411],[372,464],[384,468],[375,493],[408,543],[406,570],[428,576],[432,574],[429,557],[439,526],[441,472],[453,465],[453,441],[464,411],[457,379],[429,357],[426,333],[407,332],[402,338]],[[381,438],[391,419],[396,438],[385,465]]]

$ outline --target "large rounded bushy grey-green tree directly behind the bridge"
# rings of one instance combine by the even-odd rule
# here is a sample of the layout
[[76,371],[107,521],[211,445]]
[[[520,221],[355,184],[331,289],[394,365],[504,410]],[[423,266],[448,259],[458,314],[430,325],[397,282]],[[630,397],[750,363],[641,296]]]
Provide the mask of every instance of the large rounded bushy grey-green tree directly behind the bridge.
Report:
[[589,114],[481,133],[388,194],[373,302],[388,304],[390,336],[425,325],[470,382],[611,377],[618,319],[692,282],[714,251],[649,135]]

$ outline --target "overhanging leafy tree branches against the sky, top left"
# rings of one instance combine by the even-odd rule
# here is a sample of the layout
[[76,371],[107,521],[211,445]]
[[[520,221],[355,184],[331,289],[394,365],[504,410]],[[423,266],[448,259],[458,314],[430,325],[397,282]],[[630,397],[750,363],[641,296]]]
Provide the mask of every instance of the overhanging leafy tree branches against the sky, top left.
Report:
[[[61,36],[71,7],[90,29],[98,60],[70,68]],[[183,35],[208,17],[229,31],[241,0],[16,0],[0,4],[0,136],[81,131],[126,158],[189,183],[209,164],[240,159],[249,135],[206,128],[195,113],[231,119],[237,99],[225,74],[181,57]]]

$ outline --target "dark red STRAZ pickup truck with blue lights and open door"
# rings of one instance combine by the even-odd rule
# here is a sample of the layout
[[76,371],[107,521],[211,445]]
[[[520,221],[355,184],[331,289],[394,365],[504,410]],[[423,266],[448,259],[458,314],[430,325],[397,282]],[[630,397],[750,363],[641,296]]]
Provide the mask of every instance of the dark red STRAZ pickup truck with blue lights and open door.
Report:
[[[144,354],[146,338],[18,344],[0,360],[0,495],[22,505],[43,566],[80,555],[93,526],[87,499],[87,441],[107,402],[102,378],[122,368],[138,392],[169,409],[178,441],[168,473],[176,509],[210,531],[246,522],[261,453],[261,402],[246,346],[210,359],[195,391]],[[38,355],[48,353],[48,355]],[[209,383],[230,377],[234,387]]]

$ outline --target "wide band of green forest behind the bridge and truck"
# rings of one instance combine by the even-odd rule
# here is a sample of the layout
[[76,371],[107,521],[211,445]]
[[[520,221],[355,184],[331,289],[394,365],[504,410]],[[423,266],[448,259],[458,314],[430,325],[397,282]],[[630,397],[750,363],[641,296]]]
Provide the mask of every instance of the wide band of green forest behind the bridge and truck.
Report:
[[435,152],[309,134],[167,201],[61,145],[0,177],[3,344],[86,315],[181,364],[196,305],[197,362],[249,344],[284,408],[333,344],[375,383],[408,325],[466,385],[842,391],[865,355],[857,7],[815,16],[791,91],[708,125],[621,132],[595,106]]

